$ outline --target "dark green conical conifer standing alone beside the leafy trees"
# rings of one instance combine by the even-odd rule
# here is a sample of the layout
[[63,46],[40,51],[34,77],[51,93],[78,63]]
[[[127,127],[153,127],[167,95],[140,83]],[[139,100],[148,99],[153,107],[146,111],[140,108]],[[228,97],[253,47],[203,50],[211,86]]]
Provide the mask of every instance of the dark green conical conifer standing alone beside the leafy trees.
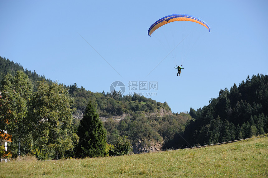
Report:
[[103,123],[91,101],[89,101],[85,114],[80,120],[77,134],[79,136],[79,144],[76,149],[78,157],[104,156],[106,130],[103,128]]

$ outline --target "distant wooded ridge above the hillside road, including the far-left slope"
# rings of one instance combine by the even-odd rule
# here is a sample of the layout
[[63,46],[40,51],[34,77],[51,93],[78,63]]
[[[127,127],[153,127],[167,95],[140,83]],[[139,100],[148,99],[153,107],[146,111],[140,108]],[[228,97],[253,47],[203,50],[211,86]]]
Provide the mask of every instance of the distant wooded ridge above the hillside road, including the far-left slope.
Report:
[[[50,79],[46,79],[45,75],[37,74],[35,70],[33,72],[31,72],[31,70],[28,71],[27,68],[24,69],[21,64],[0,56],[0,81],[2,81],[2,78],[7,73],[14,76],[16,71],[19,70],[26,73],[28,78],[31,80],[35,91],[38,86],[38,81],[45,79],[47,82],[52,82]],[[77,119],[81,119],[81,113],[84,112],[89,100],[95,103],[98,113],[100,117],[103,117],[103,119],[123,114],[133,115],[140,111],[146,114],[146,116],[151,114],[161,116],[172,114],[171,109],[166,102],[160,103],[152,100],[151,98],[146,98],[137,94],[134,94],[133,96],[122,96],[120,93],[107,92],[107,94],[105,94],[104,91],[102,93],[91,92],[86,91],[83,86],[79,88],[76,83],[64,86],[69,89],[70,96],[74,98],[74,105],[72,107],[77,110],[77,113],[74,113],[74,118]]]

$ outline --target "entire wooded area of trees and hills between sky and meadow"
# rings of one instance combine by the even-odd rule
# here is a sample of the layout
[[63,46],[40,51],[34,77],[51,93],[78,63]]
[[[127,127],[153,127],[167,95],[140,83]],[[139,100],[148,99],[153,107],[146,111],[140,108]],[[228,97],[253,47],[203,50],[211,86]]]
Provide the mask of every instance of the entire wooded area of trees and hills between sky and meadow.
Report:
[[[91,92],[76,83],[66,86],[52,82],[9,59],[0,57],[0,64],[0,130],[12,134],[14,141],[8,147],[13,155],[33,154],[39,159],[120,155],[267,133],[268,75],[247,76],[238,87],[234,84],[230,90],[221,89],[207,106],[190,108],[189,113],[172,113],[167,102],[136,93],[122,96],[115,91]],[[24,94],[18,95],[20,92]],[[78,111],[83,118],[73,117]],[[115,121],[115,116],[124,117]],[[107,119],[103,122],[99,117]],[[102,143],[83,145],[91,137],[94,143]],[[96,145],[103,148],[102,153],[89,151],[96,150]],[[123,147],[127,149],[118,151]]]

